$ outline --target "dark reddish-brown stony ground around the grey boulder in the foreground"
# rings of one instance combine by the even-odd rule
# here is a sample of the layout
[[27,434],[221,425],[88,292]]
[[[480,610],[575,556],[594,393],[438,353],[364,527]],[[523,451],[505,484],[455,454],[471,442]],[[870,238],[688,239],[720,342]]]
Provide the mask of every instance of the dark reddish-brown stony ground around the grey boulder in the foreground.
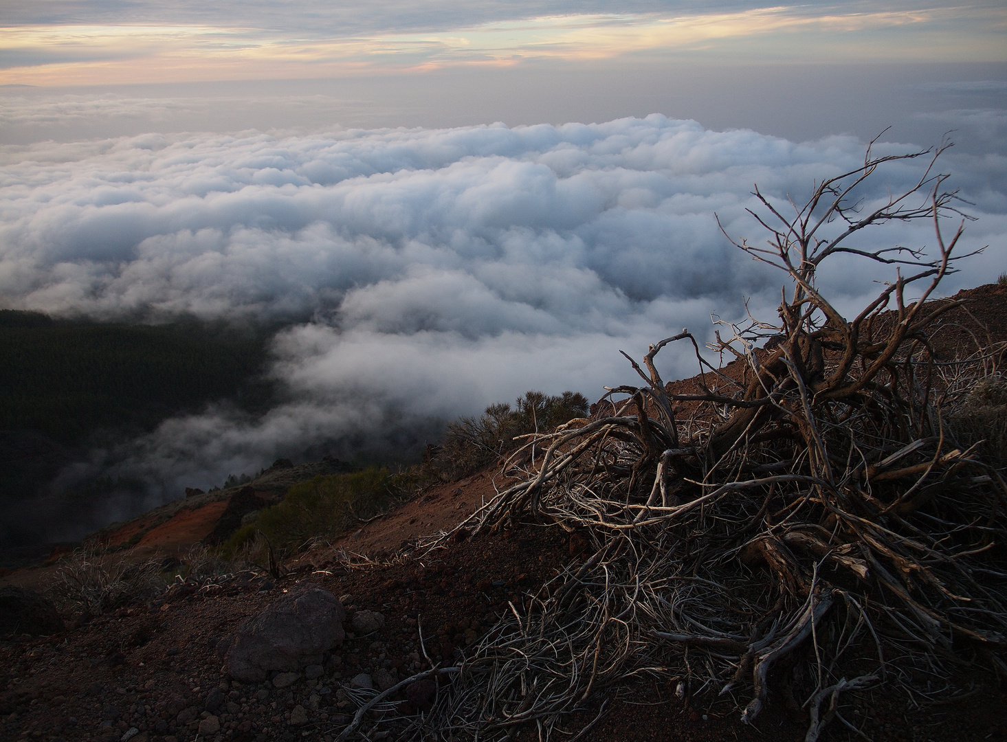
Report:
[[[457,662],[509,602],[521,607],[537,585],[580,559],[581,548],[576,535],[528,526],[377,568],[179,582],[152,601],[62,634],[3,642],[0,739],[331,740],[367,698],[362,689],[384,690],[428,669],[424,648],[435,664]],[[299,673],[236,680],[219,652],[222,639],[303,583],[340,597],[348,613],[344,640]],[[381,614],[383,625],[357,620],[368,632],[356,635],[353,619],[367,612]],[[978,672],[959,679],[966,688],[970,682],[970,695],[947,706],[911,708],[881,690],[845,699],[842,711],[874,740],[1007,739],[998,711],[1007,702],[1004,689]],[[678,698],[674,685],[641,679],[612,695],[581,739],[804,739],[807,715],[786,699],[773,699],[756,726],[744,726],[729,699]],[[390,716],[421,714],[435,692],[429,682],[403,689]],[[606,697],[571,719],[570,729],[589,723]],[[835,722],[825,738],[855,737]]]

